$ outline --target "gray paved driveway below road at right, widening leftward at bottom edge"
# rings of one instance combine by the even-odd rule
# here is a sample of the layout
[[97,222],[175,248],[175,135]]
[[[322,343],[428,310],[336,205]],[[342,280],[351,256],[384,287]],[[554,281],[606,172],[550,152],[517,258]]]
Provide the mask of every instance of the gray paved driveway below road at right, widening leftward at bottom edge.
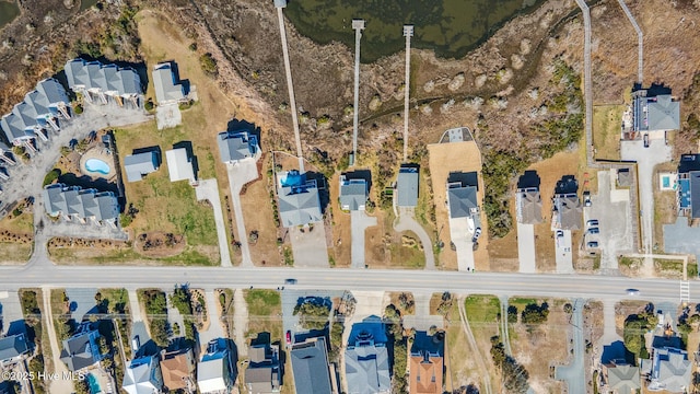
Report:
[[555,376],[557,380],[565,380],[569,394],[585,394],[586,380],[584,371],[584,345],[583,345],[583,304],[584,300],[574,300],[571,329],[573,332],[573,360],[567,367],[557,367]]

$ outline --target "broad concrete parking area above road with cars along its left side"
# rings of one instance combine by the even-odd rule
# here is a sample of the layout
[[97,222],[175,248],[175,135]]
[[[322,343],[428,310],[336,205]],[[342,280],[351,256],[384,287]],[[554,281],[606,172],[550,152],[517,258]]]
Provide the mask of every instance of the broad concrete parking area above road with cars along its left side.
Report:
[[[591,196],[591,207],[583,209],[584,225],[598,220],[598,234],[586,234],[585,242],[595,241],[600,250],[600,269],[617,271],[617,256],[632,252],[629,189],[617,189],[612,171],[598,171],[598,194]],[[588,227],[586,225],[586,231]]]

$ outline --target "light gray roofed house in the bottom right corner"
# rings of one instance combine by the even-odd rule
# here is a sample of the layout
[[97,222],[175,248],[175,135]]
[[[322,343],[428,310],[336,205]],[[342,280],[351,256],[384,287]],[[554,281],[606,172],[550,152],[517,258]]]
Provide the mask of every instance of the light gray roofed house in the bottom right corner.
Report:
[[672,393],[681,393],[690,385],[692,363],[688,352],[674,348],[654,348],[652,367],[652,386],[665,389]]

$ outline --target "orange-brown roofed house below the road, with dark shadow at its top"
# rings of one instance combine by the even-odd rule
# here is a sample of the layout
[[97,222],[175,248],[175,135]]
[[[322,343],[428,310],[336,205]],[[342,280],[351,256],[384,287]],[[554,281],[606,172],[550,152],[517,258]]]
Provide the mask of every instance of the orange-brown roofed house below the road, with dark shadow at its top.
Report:
[[411,346],[409,392],[442,394],[445,333],[417,332]]

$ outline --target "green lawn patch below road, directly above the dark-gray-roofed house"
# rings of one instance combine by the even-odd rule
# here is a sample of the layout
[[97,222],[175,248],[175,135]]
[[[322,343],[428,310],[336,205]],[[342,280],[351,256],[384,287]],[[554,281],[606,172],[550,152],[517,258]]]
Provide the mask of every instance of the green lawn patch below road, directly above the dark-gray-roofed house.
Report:
[[248,306],[247,337],[254,338],[258,333],[270,333],[272,341],[282,340],[282,300],[275,290],[244,290]]

